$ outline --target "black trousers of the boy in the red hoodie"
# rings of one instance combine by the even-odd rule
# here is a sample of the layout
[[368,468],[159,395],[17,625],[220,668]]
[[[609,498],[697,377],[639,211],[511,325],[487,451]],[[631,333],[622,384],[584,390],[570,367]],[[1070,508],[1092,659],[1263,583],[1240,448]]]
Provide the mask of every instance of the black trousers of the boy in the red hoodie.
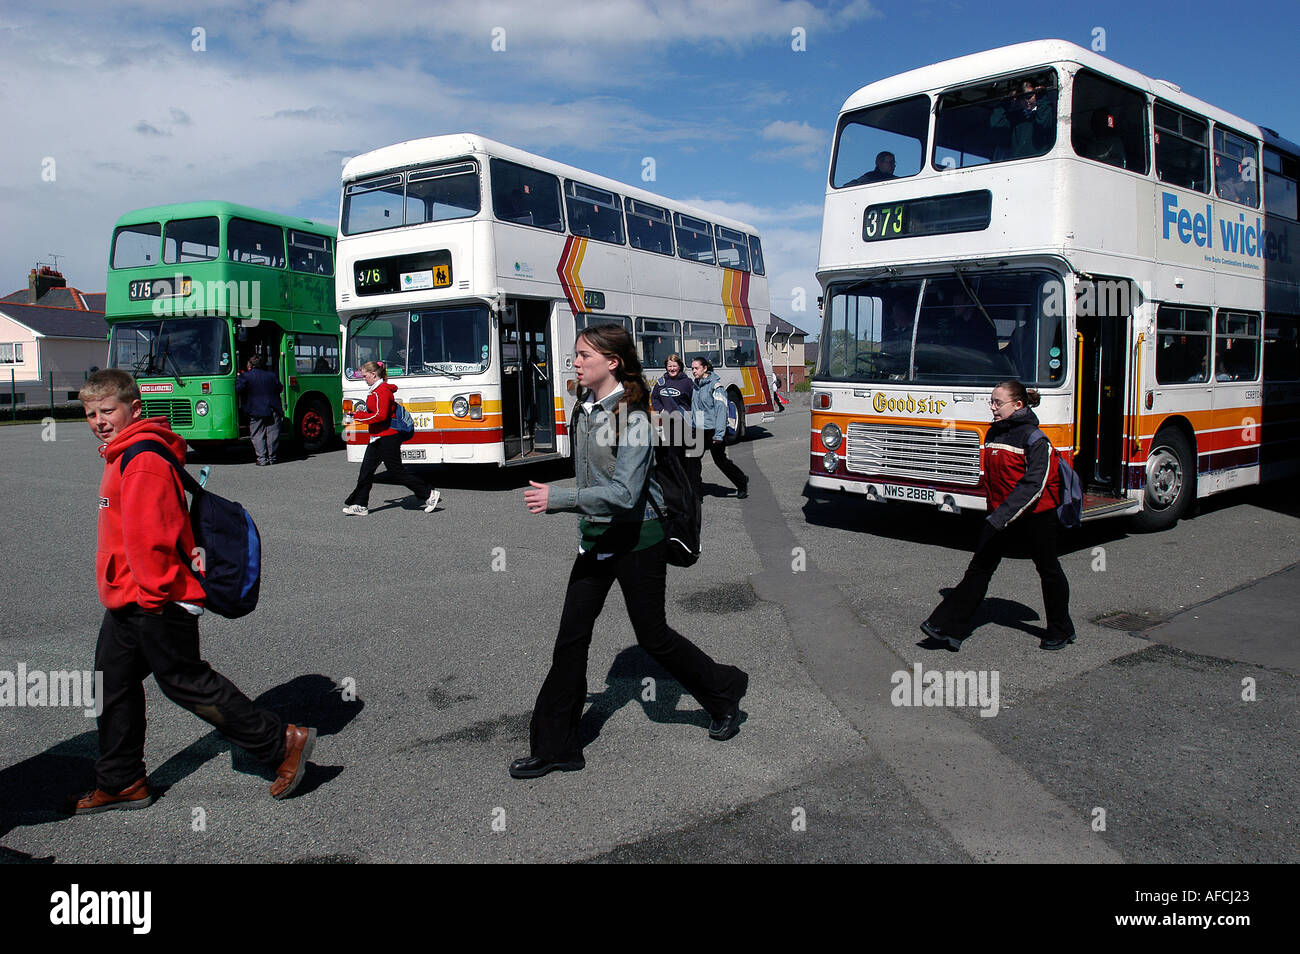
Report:
[[144,680],[181,708],[213,725],[255,758],[285,760],[285,724],[255,706],[234,682],[199,656],[199,617],[174,603],[152,615],[130,606],[109,610],[99,629],[95,669],[104,673],[95,785],[117,794],[144,776]]

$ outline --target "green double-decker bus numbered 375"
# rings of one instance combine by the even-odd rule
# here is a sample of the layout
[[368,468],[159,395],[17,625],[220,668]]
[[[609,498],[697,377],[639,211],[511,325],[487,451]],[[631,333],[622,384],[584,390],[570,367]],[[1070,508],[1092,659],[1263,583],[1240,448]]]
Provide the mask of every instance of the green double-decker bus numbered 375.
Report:
[[[225,201],[117,220],[108,256],[108,367],[131,372],[144,413],[191,443],[247,433],[237,374],[261,355],[285,428],[308,452],[341,424],[334,227]],[[283,432],[282,432],[283,433]]]

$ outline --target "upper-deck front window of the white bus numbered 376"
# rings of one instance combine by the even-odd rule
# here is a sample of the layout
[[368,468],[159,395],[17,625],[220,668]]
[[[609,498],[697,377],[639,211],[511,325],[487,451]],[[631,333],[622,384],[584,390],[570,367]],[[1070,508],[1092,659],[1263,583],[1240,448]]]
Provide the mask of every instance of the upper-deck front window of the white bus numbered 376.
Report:
[[342,231],[396,229],[478,213],[478,165],[450,162],[387,173],[343,188]]

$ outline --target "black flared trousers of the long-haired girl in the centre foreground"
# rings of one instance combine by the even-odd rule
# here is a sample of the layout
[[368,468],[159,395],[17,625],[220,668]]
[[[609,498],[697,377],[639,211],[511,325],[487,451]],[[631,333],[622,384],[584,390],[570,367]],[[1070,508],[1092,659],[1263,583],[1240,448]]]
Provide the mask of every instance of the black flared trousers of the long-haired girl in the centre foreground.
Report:
[[[611,530],[612,533],[612,530]],[[664,545],[627,550],[606,559],[588,551],[573,563],[551,671],[533,707],[532,754],[568,762],[582,754],[578,721],[586,704],[586,656],[595,619],[614,581],[619,581],[637,642],[714,717],[731,708],[745,680],[734,665],[708,654],[668,626],[663,612]]]

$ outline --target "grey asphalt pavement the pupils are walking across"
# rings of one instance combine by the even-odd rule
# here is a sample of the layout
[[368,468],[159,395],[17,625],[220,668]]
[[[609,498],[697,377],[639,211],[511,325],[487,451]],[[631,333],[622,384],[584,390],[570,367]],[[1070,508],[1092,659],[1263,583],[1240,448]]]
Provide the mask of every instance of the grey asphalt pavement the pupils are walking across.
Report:
[[[1011,559],[961,652],[936,652],[916,624],[978,520],[807,493],[807,433],[792,407],[731,450],[744,502],[706,461],[705,555],[670,569],[670,624],[751,673],[740,736],[707,738],[611,593],[588,766],[526,782],[506,766],[526,753],[576,521],[529,516],[521,491],[572,480],[564,467],[430,468],[437,513],[378,485],[363,519],[341,513],[356,474],[342,451],[211,456],[209,486],[254,513],[266,565],[252,616],[204,616],[204,651],[320,728],[303,788],[273,802],[259,766],[151,682],[164,797],[68,818],[94,720],[0,708],[0,860],[1296,859],[1294,502],[1236,491],[1154,535],[1088,525],[1062,555],[1075,645],[1037,649],[1037,580]],[[0,428],[0,672],[90,668],[103,613],[96,442],[72,422],[42,435]],[[898,704],[930,672],[996,673],[996,704]]]

